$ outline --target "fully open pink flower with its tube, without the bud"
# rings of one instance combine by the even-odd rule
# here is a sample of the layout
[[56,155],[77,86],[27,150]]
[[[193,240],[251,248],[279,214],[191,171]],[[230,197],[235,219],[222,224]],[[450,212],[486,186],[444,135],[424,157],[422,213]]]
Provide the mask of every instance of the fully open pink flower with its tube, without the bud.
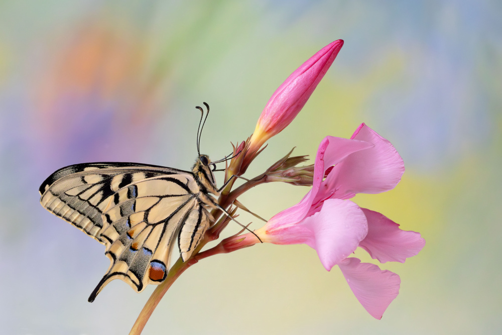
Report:
[[[347,257],[361,247],[382,263],[405,262],[418,254],[425,240],[419,233],[400,230],[381,213],[346,199],[356,193],[391,190],[404,170],[394,146],[364,124],[350,139],[328,136],[317,151],[312,189],[255,233],[263,242],[304,243],[314,248],[326,270],[338,265],[362,306],[380,319],[399,293],[399,276]],[[237,249],[257,242],[246,234],[229,238],[225,247]]]

